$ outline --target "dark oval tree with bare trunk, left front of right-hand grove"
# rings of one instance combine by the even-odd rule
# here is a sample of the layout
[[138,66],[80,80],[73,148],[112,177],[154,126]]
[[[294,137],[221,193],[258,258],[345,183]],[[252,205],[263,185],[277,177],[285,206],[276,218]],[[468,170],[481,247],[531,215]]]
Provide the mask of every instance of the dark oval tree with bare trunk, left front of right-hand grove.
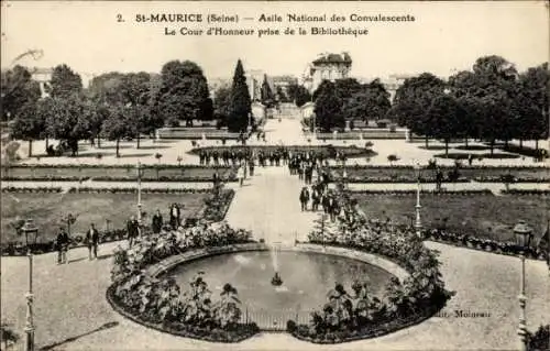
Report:
[[444,94],[436,97],[427,111],[427,123],[431,124],[433,136],[446,142],[446,155],[449,154],[449,141],[461,132],[461,116],[454,97]]

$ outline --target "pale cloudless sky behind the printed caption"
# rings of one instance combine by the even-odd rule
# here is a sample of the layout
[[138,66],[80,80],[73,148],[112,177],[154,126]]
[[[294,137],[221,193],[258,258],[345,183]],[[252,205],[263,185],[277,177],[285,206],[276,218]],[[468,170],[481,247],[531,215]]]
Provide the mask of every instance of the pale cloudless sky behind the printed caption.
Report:
[[[172,59],[190,59],[206,76],[231,77],[238,58],[245,69],[299,76],[324,52],[348,52],[351,75],[387,77],[430,72],[449,76],[471,69],[480,56],[501,55],[519,70],[548,61],[549,10],[543,1],[460,2],[261,2],[261,1],[2,1],[1,66],[29,50],[42,50],[28,66],[65,63],[84,76],[107,72],[160,72]],[[138,23],[136,14],[239,15],[239,23]],[[261,14],[345,18],[334,23],[265,23]],[[410,15],[414,22],[351,22],[358,15]],[[121,14],[124,22],[118,22]],[[251,18],[252,20],[244,20]],[[165,28],[367,29],[367,35],[190,36],[164,35]],[[84,77],[86,79],[86,77]]]

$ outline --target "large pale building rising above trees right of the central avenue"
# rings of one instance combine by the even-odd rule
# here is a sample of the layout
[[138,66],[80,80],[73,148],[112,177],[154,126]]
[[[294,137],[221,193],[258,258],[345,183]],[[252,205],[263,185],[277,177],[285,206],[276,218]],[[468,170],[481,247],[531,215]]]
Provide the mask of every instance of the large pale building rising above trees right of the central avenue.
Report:
[[302,85],[312,94],[322,80],[334,81],[348,78],[351,65],[352,59],[348,53],[321,54],[306,67]]

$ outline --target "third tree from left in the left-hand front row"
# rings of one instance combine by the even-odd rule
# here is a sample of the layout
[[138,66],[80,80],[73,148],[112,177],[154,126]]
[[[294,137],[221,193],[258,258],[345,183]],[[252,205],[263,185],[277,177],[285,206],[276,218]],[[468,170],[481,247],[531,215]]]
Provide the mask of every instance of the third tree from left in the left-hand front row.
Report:
[[102,134],[117,142],[117,157],[120,157],[120,140],[134,138],[138,134],[134,109],[121,105],[111,106],[109,116],[103,122]]

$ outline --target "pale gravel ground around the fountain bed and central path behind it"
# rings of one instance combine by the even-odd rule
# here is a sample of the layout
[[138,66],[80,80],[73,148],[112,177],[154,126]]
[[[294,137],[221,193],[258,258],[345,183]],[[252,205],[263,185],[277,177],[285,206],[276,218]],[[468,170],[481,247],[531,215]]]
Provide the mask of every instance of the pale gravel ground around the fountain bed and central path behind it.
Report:
[[[300,212],[300,182],[284,168],[258,169],[238,189],[228,213],[233,226],[254,231],[266,242],[304,239],[315,215]],[[411,209],[413,210],[413,209]],[[125,244],[125,243],[121,243]],[[441,252],[443,279],[457,295],[444,311],[488,312],[487,318],[433,317],[389,336],[339,345],[318,347],[288,334],[262,333],[229,345],[231,350],[457,350],[516,347],[519,308],[519,260],[491,253],[427,243]],[[117,243],[100,248],[101,260],[87,260],[85,249],[73,250],[68,265],[56,265],[54,254],[35,257],[36,342],[55,350],[218,350],[228,345],[199,342],[154,331],[125,320],[105,298],[110,284],[110,254]],[[491,267],[488,270],[487,267]],[[2,257],[2,317],[22,331],[25,316],[26,259]],[[527,262],[527,316],[530,329],[550,321],[550,281],[543,262]]]

